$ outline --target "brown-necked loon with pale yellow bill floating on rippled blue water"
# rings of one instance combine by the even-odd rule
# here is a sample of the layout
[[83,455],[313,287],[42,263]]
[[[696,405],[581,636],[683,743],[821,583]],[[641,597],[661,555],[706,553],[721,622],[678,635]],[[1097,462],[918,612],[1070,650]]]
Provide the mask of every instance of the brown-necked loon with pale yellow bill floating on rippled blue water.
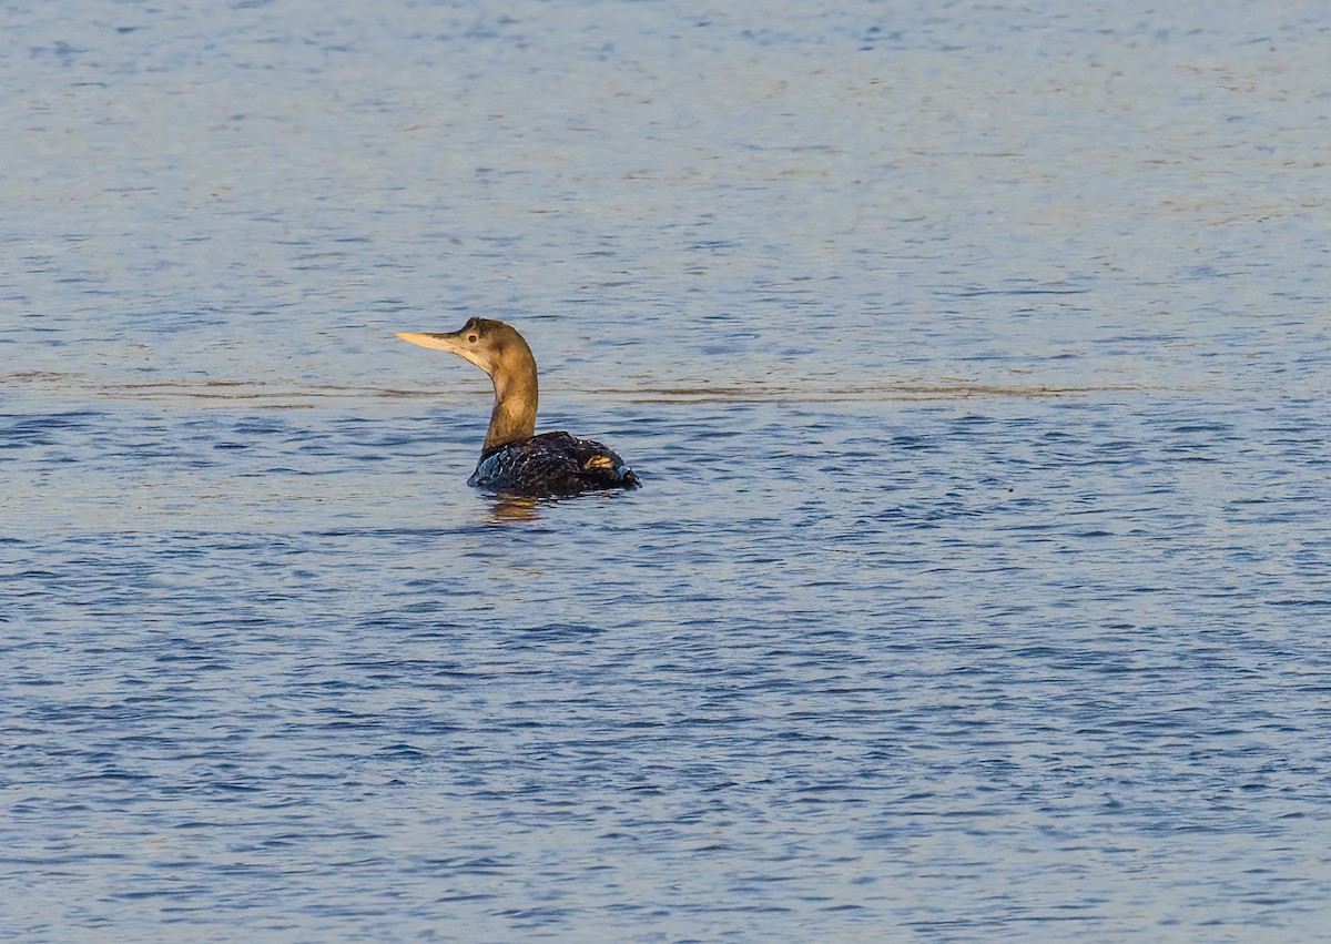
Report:
[[446,334],[399,332],[403,341],[471,361],[495,385],[490,429],[467,485],[514,495],[575,495],[636,489],[634,470],[599,442],[567,433],[536,435],[536,358],[512,325],[471,318]]

